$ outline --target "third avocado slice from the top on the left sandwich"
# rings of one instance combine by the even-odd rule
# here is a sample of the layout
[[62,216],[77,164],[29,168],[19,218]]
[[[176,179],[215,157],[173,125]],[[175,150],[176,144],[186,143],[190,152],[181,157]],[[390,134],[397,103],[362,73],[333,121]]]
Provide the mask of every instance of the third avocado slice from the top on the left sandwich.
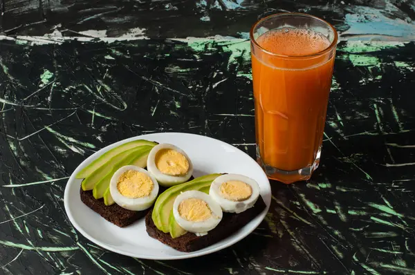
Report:
[[130,149],[128,151],[129,154],[126,155],[125,158],[122,158],[119,162],[114,164],[111,172],[107,173],[107,176],[104,176],[104,178],[102,178],[99,182],[97,182],[97,184],[95,184],[95,186],[93,187],[93,191],[92,191],[93,197],[98,200],[104,196],[105,191],[109,187],[109,182],[111,182],[111,178],[113,174],[116,173],[116,171],[120,169],[121,167],[125,165],[129,165],[132,162],[134,162],[134,160],[139,159],[140,162],[138,162],[138,165],[136,166],[144,168],[147,164],[147,157],[152,148],[153,147],[151,146],[143,145],[143,146],[137,147],[137,149],[135,148]]

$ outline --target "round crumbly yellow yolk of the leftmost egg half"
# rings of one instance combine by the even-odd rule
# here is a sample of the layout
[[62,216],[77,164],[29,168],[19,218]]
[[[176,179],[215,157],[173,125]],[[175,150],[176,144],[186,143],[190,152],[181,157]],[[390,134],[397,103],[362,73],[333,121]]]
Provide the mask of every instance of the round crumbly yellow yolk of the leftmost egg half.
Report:
[[117,181],[118,191],[127,198],[147,197],[153,186],[154,183],[147,174],[136,170],[125,171]]

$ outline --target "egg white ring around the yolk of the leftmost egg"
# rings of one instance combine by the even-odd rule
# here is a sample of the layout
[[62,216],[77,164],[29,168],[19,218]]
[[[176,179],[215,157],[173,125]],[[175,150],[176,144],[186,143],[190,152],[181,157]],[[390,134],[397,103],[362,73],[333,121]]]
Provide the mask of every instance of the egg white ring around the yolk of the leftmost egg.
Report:
[[[149,196],[145,196],[142,198],[128,198],[126,196],[123,196],[120,191],[118,191],[117,188],[117,182],[118,178],[120,178],[121,174],[128,170],[135,170],[141,173],[145,173],[151,178],[151,181],[153,182],[153,189],[151,190],[151,193]],[[109,191],[111,193],[111,196],[116,202],[117,205],[120,205],[120,207],[124,209],[129,209],[132,211],[142,211],[145,210],[151,205],[153,205],[154,201],[157,198],[158,195],[158,182],[154,176],[151,175],[147,170],[142,169],[141,167],[137,167],[135,165],[126,165],[124,167],[121,167],[116,171],[116,173],[113,174],[111,178],[111,182],[109,183]]]

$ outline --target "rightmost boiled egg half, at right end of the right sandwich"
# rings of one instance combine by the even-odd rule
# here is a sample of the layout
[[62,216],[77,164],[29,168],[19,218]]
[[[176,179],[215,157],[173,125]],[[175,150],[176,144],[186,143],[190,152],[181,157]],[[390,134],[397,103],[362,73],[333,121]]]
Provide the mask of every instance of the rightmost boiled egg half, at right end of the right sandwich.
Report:
[[252,178],[229,173],[212,182],[209,195],[221,205],[224,212],[238,214],[255,205],[259,197],[259,185]]

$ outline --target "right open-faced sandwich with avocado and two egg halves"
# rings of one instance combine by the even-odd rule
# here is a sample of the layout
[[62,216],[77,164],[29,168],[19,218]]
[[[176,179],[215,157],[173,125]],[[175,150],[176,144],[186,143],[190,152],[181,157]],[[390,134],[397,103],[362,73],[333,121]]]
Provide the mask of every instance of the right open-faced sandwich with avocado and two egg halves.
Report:
[[255,180],[210,174],[170,187],[145,217],[147,234],[181,252],[217,243],[265,209]]

